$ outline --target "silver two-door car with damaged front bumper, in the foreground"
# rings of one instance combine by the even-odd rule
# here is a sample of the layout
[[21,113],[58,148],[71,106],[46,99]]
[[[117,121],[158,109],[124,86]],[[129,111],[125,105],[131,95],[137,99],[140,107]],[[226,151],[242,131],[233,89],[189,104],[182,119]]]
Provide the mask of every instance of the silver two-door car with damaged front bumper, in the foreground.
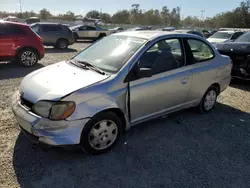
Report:
[[195,106],[211,111],[231,69],[202,37],[121,32],[27,75],[12,109],[34,143],[103,153],[138,123]]

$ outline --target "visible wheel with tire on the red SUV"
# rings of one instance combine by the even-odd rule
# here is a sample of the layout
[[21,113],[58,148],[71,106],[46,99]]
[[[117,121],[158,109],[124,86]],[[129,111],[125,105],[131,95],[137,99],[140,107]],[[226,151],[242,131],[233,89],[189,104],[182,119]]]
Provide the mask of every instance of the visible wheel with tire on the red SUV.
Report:
[[32,67],[37,64],[39,55],[36,50],[31,48],[26,48],[18,52],[17,62],[25,67]]

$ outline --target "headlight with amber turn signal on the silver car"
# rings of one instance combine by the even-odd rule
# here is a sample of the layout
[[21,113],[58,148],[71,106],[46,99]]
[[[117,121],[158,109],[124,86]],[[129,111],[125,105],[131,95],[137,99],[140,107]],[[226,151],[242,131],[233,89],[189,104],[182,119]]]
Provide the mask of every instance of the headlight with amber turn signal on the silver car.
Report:
[[62,120],[75,111],[75,102],[69,101],[38,101],[32,111],[37,115],[51,120]]

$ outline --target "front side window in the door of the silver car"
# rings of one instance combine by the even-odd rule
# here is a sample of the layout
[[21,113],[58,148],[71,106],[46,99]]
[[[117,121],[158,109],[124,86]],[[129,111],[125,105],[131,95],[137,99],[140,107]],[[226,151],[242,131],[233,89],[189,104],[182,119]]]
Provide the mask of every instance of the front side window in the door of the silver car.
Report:
[[139,68],[151,68],[153,74],[177,69],[184,65],[179,39],[161,40],[148,49],[138,62]]

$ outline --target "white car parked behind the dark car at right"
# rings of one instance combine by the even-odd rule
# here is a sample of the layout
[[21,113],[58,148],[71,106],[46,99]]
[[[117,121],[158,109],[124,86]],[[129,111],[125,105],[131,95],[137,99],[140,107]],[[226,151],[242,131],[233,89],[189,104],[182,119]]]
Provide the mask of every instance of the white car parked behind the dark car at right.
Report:
[[243,31],[218,31],[209,37],[207,40],[215,45],[222,42],[228,42],[230,40],[237,39],[240,35],[242,35]]

